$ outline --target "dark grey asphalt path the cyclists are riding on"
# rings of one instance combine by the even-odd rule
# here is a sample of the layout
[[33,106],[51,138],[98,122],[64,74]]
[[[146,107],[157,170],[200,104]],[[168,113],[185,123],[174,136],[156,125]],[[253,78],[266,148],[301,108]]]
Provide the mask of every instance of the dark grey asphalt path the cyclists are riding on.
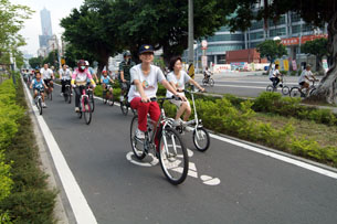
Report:
[[97,104],[86,126],[61,97],[46,103],[43,117],[98,223],[336,223],[336,179],[214,138],[198,152],[187,134],[191,170],[173,186],[160,166],[127,160],[131,116],[119,107]]

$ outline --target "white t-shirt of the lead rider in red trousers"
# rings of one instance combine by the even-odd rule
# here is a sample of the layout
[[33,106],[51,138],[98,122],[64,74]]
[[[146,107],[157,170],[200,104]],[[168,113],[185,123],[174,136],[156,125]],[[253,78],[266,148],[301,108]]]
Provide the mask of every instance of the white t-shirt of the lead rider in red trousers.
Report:
[[[158,82],[161,83],[165,76],[158,66],[150,65],[150,72],[148,75],[144,75],[141,71],[141,64],[135,65],[130,68],[131,83],[138,79],[144,88],[144,93],[148,98],[156,97],[158,89]],[[135,97],[141,97],[136,85],[131,85],[128,93],[128,102],[131,102]]]

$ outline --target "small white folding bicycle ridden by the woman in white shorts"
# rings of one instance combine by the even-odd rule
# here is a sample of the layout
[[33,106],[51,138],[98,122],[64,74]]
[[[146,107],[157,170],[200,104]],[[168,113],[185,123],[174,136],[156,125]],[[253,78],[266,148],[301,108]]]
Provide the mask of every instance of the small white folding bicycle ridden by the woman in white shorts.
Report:
[[[194,103],[194,94],[198,92],[187,90],[183,89],[186,94],[190,94],[193,103],[193,111],[194,111],[194,119],[187,121],[186,124],[181,124],[180,126],[176,126],[176,129],[178,132],[182,134],[186,130],[187,126],[192,126],[193,129],[193,145],[199,151],[206,151],[210,147],[210,135],[203,128],[202,120],[198,119],[198,114],[196,109],[196,103]],[[200,92],[200,90],[199,90]]]

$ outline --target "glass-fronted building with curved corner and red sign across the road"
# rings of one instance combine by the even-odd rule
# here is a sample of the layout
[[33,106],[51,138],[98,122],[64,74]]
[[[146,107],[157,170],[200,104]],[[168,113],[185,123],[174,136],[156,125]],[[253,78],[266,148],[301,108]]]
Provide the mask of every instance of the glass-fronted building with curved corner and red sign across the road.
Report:
[[[259,6],[257,6],[259,7]],[[228,28],[222,26],[214,33],[213,36],[208,36],[208,49],[206,55],[208,56],[208,65],[225,64],[225,55],[230,51],[255,49],[256,45],[265,40],[280,36],[282,43],[286,45],[288,57],[296,60],[299,63],[308,61],[310,64],[315,60],[301,53],[301,44],[308,40],[327,36],[327,25],[314,29],[306,24],[298,14],[288,12],[283,14],[280,20],[274,23],[267,21],[267,28],[264,28],[264,21],[252,21],[251,28],[245,32],[231,33]],[[301,40],[301,41],[299,41]],[[198,46],[194,49],[196,67],[201,67],[201,42],[197,42]],[[253,51],[253,50],[252,50]],[[188,51],[183,53],[183,60],[188,61]]]

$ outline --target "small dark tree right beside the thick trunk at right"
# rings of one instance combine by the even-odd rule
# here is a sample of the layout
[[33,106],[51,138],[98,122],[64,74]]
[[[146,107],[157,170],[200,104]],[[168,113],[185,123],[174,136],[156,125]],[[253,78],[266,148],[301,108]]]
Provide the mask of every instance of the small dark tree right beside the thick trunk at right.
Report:
[[327,39],[316,39],[313,41],[307,41],[301,46],[301,52],[316,56],[316,70],[323,71],[324,74],[325,71],[322,66],[322,58],[324,56],[328,56],[327,44]]

